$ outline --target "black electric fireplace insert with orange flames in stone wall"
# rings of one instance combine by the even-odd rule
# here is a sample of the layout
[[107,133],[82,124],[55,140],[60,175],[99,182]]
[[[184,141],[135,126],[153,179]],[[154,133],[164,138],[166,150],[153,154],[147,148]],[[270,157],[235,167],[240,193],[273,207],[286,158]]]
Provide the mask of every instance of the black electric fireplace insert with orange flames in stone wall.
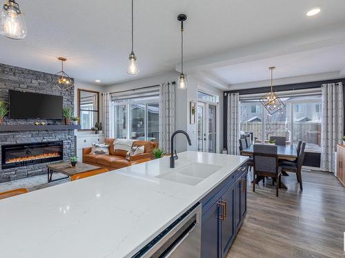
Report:
[[63,160],[63,142],[34,142],[1,146],[1,169]]

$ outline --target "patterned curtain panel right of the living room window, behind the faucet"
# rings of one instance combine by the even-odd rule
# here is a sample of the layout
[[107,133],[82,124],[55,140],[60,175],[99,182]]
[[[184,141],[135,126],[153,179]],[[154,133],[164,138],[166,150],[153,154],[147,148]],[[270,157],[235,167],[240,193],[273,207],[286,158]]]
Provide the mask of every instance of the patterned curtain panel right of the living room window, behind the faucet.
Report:
[[170,153],[170,137],[175,131],[175,85],[159,87],[159,148]]

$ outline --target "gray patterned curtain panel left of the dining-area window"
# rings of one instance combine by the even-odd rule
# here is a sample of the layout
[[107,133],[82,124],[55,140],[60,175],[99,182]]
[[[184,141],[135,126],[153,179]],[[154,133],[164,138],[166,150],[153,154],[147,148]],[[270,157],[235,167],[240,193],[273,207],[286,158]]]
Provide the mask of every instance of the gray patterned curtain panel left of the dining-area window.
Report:
[[228,94],[228,154],[239,154],[239,94]]

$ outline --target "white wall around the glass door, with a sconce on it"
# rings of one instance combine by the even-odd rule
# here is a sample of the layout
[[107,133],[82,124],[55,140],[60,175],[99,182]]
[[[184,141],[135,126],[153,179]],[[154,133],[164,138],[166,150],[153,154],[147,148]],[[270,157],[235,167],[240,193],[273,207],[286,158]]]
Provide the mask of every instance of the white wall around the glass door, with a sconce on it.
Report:
[[188,76],[188,87],[187,87],[187,132],[190,136],[190,140],[192,141],[192,146],[188,146],[188,150],[190,151],[197,151],[197,122],[195,124],[190,124],[189,121],[189,103],[190,101],[194,101],[197,104],[197,91],[198,89],[204,90],[204,92],[210,94],[217,94],[219,96],[219,105],[217,107],[217,129],[219,131],[217,135],[217,153],[221,153],[223,149],[223,91],[213,87],[212,85],[208,85],[206,83],[202,83],[197,76],[189,75]]

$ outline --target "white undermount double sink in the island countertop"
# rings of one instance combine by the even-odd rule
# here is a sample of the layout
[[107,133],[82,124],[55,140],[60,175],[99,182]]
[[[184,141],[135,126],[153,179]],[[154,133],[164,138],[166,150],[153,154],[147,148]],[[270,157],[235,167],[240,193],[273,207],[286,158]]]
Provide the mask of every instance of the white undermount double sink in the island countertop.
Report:
[[213,173],[219,171],[221,168],[222,166],[190,162],[188,164],[184,164],[183,166],[172,169],[162,175],[157,175],[156,178],[195,186]]

